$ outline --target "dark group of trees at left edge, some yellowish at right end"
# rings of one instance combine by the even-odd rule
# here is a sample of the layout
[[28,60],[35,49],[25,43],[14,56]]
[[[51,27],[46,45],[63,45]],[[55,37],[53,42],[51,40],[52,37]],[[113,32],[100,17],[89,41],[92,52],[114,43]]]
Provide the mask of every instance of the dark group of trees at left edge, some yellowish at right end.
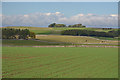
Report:
[[28,29],[2,28],[2,39],[34,39],[35,33]]

